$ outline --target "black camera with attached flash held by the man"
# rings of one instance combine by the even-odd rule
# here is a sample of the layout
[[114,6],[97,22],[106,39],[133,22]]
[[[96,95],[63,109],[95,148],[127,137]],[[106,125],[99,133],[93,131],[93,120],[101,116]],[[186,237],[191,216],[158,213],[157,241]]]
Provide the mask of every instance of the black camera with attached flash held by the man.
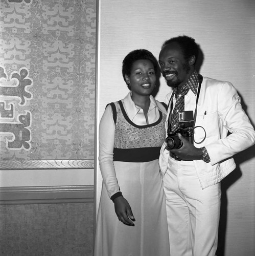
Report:
[[193,144],[193,111],[180,111],[178,123],[180,128],[177,131],[168,132],[168,136],[165,140],[167,150],[173,150],[174,148],[180,148],[182,146],[183,143],[182,140],[178,137],[178,133]]

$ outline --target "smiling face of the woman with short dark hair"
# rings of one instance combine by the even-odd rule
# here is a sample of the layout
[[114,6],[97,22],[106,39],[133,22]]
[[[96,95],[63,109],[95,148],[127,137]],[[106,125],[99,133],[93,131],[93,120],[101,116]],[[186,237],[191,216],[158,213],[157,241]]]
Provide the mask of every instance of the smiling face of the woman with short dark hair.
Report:
[[125,76],[129,83],[132,95],[151,95],[156,84],[156,74],[153,64],[148,59],[136,60],[132,67],[130,76]]

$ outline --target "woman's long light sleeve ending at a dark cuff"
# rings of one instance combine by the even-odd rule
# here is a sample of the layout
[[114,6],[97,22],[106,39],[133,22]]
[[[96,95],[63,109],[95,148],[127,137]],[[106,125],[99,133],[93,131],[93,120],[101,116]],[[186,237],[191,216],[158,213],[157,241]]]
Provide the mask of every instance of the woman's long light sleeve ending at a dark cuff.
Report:
[[99,124],[99,165],[109,197],[120,191],[113,165],[115,124],[108,105]]

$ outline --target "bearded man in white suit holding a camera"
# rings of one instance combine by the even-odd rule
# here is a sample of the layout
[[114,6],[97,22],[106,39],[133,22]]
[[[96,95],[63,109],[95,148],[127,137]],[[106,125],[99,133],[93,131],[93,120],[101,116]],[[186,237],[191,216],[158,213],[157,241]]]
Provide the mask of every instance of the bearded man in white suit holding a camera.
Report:
[[196,72],[198,49],[183,35],[165,41],[159,54],[172,88],[159,158],[171,256],[216,255],[220,181],[236,168],[233,155],[255,140],[234,86]]

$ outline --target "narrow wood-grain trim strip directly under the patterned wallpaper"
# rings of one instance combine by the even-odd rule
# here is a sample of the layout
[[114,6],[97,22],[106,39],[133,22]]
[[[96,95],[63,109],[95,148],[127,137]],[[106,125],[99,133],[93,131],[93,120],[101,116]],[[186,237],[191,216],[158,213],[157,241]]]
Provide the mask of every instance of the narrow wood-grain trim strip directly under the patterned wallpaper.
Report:
[[14,169],[90,169],[94,159],[88,160],[1,160],[0,170]]

